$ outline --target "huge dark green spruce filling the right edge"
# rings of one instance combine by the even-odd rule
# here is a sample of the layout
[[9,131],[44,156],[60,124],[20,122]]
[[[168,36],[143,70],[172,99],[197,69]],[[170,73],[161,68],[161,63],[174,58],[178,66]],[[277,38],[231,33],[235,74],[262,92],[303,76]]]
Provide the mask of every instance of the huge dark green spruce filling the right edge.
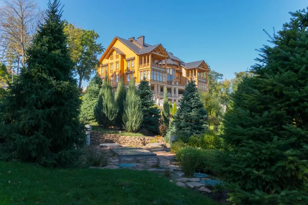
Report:
[[235,204],[308,204],[308,13],[291,15],[225,116],[233,152],[219,155],[217,171]]

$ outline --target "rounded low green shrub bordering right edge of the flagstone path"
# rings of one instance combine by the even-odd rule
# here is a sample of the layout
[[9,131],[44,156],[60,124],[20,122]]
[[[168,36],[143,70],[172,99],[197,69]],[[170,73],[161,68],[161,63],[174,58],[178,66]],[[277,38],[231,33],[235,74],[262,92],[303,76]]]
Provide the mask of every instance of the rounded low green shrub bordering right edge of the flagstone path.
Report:
[[185,176],[193,176],[201,165],[202,150],[184,147],[177,151],[176,159],[180,161]]

